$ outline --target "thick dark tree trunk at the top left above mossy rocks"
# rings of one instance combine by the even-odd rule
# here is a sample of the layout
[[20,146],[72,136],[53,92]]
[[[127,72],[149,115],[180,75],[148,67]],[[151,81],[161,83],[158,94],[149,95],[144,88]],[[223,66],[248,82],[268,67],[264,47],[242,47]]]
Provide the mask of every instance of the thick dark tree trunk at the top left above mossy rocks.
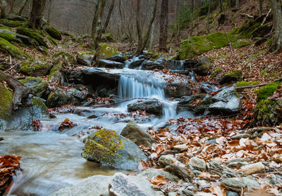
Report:
[[42,16],[46,0],[33,0],[28,26],[32,29],[42,28]]

